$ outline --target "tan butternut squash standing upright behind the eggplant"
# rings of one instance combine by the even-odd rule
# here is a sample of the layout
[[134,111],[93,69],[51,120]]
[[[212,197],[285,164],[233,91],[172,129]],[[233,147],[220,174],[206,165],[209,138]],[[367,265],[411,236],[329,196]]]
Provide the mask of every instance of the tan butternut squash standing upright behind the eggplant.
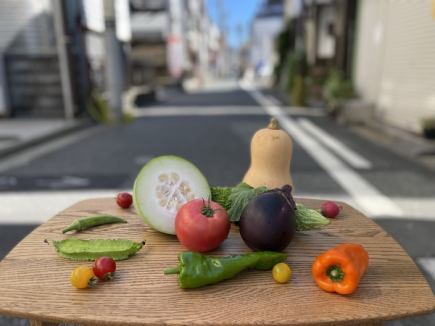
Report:
[[251,165],[243,182],[254,188],[265,186],[273,189],[286,184],[293,187],[290,175],[292,154],[291,138],[272,118],[267,128],[258,130],[251,139]]

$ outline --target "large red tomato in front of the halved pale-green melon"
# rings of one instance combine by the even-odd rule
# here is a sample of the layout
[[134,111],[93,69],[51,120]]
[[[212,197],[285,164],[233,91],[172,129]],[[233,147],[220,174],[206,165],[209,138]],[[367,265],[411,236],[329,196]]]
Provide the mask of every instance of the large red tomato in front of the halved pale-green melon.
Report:
[[194,199],[178,210],[175,232],[183,246],[192,251],[216,249],[230,232],[230,221],[218,203]]

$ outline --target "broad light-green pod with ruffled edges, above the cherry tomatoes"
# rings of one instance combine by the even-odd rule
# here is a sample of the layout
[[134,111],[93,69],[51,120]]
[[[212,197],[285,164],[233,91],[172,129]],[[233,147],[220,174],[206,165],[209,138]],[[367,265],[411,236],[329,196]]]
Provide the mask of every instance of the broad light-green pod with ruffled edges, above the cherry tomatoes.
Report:
[[124,260],[133,256],[144,244],[145,241],[134,242],[125,239],[53,240],[53,245],[60,256],[78,261],[92,261],[101,256]]

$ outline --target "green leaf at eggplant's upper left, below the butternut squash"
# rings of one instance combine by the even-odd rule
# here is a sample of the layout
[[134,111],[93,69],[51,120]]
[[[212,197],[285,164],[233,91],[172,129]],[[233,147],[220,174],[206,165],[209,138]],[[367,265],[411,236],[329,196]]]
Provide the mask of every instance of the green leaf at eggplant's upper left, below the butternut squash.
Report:
[[237,186],[232,188],[231,194],[229,196],[231,207],[228,210],[230,221],[239,221],[243,210],[251,201],[251,199],[266,192],[267,190],[268,189],[266,187],[253,188],[244,182],[239,183]]

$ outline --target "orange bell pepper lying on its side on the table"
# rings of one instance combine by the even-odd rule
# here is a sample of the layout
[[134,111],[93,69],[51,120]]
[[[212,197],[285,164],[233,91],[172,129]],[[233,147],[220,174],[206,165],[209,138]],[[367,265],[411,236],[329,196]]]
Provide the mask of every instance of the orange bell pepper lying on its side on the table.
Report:
[[311,273],[322,290],[351,294],[357,289],[368,263],[369,255],[363,246],[343,243],[319,255]]

